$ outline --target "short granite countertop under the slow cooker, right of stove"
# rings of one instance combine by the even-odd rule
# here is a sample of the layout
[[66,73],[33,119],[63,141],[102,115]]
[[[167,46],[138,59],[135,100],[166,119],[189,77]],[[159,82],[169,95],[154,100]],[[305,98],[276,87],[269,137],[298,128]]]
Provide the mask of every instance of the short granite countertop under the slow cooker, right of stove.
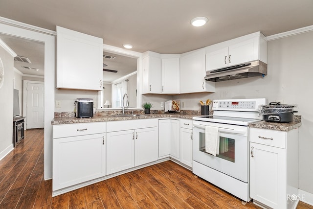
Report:
[[291,123],[276,123],[276,122],[266,122],[259,121],[250,123],[250,128],[263,128],[276,131],[291,131],[292,129],[297,129],[301,126],[301,116],[294,116],[294,121]]

